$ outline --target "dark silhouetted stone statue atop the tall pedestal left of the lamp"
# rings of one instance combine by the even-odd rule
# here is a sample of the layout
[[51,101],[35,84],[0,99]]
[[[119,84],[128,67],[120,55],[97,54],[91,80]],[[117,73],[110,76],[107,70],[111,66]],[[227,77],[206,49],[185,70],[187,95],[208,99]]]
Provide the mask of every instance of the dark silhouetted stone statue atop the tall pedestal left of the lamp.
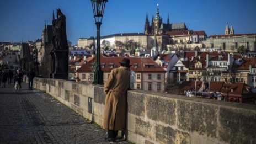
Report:
[[52,27],[52,43],[54,45],[54,49],[68,49],[66,34],[66,17],[59,8],[57,9],[57,19],[52,20]]

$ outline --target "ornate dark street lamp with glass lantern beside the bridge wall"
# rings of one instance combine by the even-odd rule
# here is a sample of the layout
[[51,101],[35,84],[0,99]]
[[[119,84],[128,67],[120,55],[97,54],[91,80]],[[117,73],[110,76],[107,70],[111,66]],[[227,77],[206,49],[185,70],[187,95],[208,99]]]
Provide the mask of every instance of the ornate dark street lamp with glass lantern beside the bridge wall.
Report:
[[93,84],[103,84],[103,72],[100,66],[100,25],[102,24],[102,18],[104,14],[105,4],[108,0],[91,0],[93,7],[93,15],[95,19],[95,25],[97,27],[97,55],[94,68]]

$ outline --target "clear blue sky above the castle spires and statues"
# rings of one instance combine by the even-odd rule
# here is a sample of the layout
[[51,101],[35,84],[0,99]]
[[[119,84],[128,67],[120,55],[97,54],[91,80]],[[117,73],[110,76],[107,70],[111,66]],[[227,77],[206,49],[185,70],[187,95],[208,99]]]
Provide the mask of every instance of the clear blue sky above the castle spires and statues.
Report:
[[[146,14],[151,22],[157,4],[163,23],[184,22],[191,30],[204,30],[208,36],[224,34],[226,24],[234,33],[256,33],[255,0],[109,0],[106,3],[100,35],[143,33]],[[0,41],[19,42],[41,38],[45,20],[51,25],[52,12],[60,8],[66,15],[67,39],[97,35],[90,0],[1,0]]]

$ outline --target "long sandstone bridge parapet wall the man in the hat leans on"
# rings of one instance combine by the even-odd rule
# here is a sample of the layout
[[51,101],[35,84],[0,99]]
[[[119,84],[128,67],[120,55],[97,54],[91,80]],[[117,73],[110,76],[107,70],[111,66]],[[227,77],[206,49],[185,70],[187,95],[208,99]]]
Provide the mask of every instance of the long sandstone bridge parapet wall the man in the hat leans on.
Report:
[[[34,79],[34,88],[52,95],[99,125],[103,86],[60,79]],[[131,90],[126,136],[134,143],[256,143],[256,106]]]

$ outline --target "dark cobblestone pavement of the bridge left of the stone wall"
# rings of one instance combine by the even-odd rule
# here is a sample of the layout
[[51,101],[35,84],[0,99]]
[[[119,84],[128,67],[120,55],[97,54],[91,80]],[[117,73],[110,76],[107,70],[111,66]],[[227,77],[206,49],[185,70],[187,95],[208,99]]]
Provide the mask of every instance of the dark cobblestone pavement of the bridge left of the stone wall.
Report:
[[0,143],[110,143],[105,137],[105,130],[26,83],[20,90],[0,87]]

